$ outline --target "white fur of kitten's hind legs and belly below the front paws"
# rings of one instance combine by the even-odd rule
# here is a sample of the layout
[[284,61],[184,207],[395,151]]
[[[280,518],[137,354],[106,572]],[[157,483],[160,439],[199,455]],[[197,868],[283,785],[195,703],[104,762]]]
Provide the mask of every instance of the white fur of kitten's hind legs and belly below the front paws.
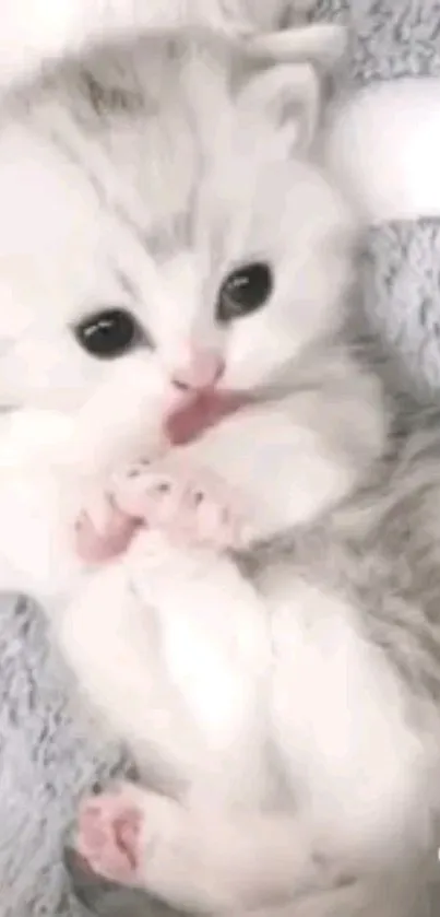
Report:
[[[146,774],[159,763],[187,785],[183,807],[126,790],[144,816],[138,881],[214,913],[292,900],[302,917],[301,890],[328,883],[325,917],[413,914],[429,756],[397,681],[348,603],[294,575],[266,598],[270,616],[226,559],[145,533],[63,618],[81,684]],[[269,737],[288,781],[278,813],[264,811]],[[332,891],[341,869],[365,885]]]

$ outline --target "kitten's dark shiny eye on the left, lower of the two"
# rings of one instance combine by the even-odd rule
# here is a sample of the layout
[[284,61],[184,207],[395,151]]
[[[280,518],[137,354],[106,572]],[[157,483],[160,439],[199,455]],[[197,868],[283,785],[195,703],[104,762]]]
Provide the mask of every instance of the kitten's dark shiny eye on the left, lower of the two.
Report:
[[87,316],[74,328],[84,350],[100,360],[115,360],[132,350],[144,337],[135,318],[126,309],[103,309]]

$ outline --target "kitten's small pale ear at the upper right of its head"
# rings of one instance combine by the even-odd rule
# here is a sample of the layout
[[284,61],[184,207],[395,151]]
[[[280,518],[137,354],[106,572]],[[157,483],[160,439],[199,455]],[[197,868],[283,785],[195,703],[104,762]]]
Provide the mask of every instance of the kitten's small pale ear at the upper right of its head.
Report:
[[307,150],[320,115],[320,79],[311,63],[283,63],[252,77],[239,94],[239,109],[259,113],[293,150]]

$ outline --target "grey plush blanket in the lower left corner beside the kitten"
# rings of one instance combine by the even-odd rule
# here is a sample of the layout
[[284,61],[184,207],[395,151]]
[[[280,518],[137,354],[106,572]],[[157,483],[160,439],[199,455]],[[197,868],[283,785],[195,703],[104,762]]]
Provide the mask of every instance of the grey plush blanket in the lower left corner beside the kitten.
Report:
[[62,867],[66,832],[78,795],[118,755],[84,740],[44,616],[23,600],[2,599],[0,659],[0,914],[80,917]]

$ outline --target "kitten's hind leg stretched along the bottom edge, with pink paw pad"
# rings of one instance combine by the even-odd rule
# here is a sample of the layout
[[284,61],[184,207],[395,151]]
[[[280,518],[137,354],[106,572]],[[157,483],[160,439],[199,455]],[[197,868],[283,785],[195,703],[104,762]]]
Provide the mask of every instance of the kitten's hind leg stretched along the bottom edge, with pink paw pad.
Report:
[[187,808],[132,784],[83,801],[76,848],[107,880],[207,913],[403,917],[421,887],[414,862],[350,871],[299,815]]

